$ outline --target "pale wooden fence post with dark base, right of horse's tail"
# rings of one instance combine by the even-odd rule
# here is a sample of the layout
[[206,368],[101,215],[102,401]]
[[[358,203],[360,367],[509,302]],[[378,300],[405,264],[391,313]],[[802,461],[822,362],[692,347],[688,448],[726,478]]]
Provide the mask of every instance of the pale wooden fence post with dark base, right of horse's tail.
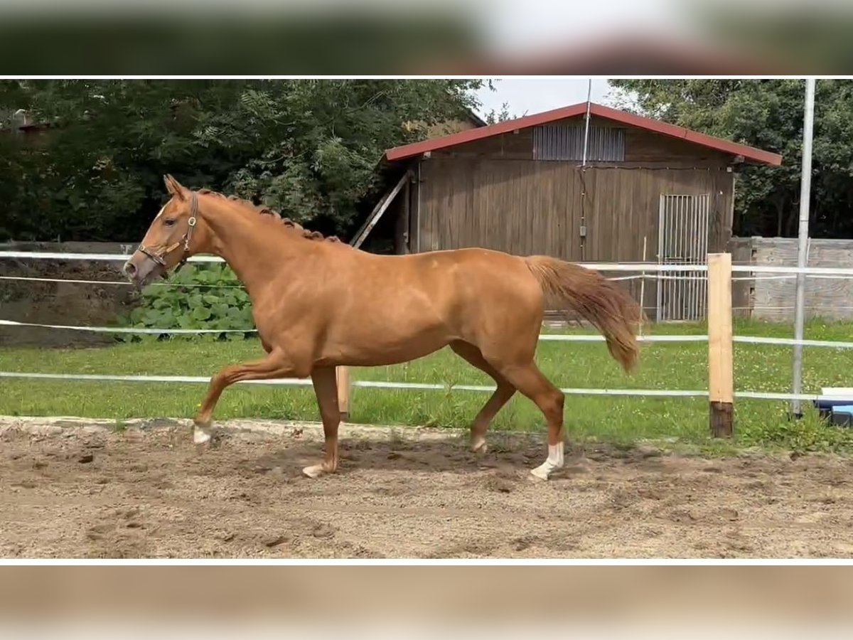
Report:
[[708,399],[712,438],[728,438],[734,424],[732,254],[708,254]]

